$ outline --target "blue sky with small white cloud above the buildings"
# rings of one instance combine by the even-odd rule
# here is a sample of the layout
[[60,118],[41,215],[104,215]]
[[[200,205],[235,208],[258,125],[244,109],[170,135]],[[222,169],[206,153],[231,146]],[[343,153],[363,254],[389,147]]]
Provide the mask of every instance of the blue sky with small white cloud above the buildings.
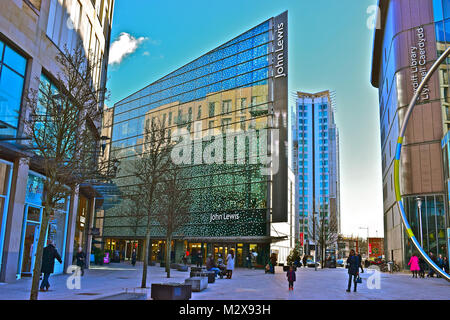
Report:
[[[109,106],[288,10],[289,89],[335,90],[342,231],[383,235],[377,90],[370,84],[376,0],[116,0]],[[126,33],[126,34],[124,34]],[[122,56],[122,52],[130,52]],[[127,48],[124,48],[127,47]],[[127,51],[128,49],[128,51]],[[122,58],[122,59],[121,59]]]

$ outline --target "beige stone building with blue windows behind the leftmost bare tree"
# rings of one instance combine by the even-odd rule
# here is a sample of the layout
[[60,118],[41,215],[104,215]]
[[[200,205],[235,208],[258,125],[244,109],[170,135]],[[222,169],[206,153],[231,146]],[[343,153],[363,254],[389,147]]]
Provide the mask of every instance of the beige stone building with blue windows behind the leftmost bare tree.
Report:
[[[27,116],[26,92],[51,85],[60,65],[55,57],[64,46],[81,41],[101,66],[93,71],[94,86],[106,82],[114,0],[0,1],[0,281],[31,276],[43,212],[45,176],[27,150],[21,119]],[[92,188],[65,199],[50,220],[53,240],[63,263],[72,264],[74,250],[89,251],[87,224],[95,206]]]

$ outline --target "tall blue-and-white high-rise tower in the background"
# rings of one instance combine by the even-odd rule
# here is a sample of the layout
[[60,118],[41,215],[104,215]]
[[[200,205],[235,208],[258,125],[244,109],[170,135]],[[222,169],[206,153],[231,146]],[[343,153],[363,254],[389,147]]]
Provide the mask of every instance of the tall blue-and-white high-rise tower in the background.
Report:
[[313,243],[314,211],[316,219],[336,218],[340,230],[339,135],[330,93],[297,92],[295,125],[298,219],[306,246]]

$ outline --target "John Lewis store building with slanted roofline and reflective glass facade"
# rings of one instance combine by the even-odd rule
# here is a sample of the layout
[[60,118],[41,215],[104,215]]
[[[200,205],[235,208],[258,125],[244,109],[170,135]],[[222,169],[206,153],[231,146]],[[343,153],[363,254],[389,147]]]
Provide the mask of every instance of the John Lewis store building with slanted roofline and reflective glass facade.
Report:
[[[279,217],[282,220],[285,214],[274,208],[272,198],[284,190],[284,186],[274,190],[277,179],[284,182],[287,191],[287,158],[283,153],[277,159],[279,170],[267,175],[261,154],[251,152],[248,143],[255,138],[258,148],[267,150],[275,139],[284,139],[282,131],[287,130],[287,124],[281,126],[277,137],[271,130],[283,123],[287,112],[287,82],[283,86],[277,81],[287,81],[287,12],[114,105],[110,157],[120,161],[115,183],[121,190],[132,188],[136,182],[127,167],[145,153],[145,130],[154,119],[167,126],[170,136],[184,129],[192,139],[191,161],[185,164],[192,198],[190,220],[178,232],[178,238],[187,242],[180,241],[178,246],[184,249],[176,250],[177,255],[192,248],[224,253],[231,245],[239,261],[250,246],[259,246],[258,259],[263,263],[272,240],[270,223]],[[234,143],[240,137],[246,139],[244,153],[235,152]],[[219,140],[223,152],[216,154],[216,149],[208,153],[212,141]],[[230,141],[234,147],[227,148]],[[279,144],[285,145],[282,141]],[[213,163],[207,160],[210,155]],[[284,197],[287,206],[287,192],[280,195]],[[144,236],[144,228],[133,228],[124,214],[124,208],[130,205],[122,199],[101,218],[103,238],[110,248],[120,247],[121,252],[127,250],[126,244],[122,241],[119,246],[115,239]],[[151,236],[162,236],[156,225]],[[156,241],[153,245],[160,244]]]

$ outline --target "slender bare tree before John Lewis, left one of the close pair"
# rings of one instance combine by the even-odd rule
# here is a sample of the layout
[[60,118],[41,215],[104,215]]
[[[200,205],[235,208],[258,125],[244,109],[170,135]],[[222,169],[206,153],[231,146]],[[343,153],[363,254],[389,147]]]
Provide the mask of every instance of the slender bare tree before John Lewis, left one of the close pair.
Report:
[[134,192],[139,199],[140,206],[145,212],[145,251],[144,267],[142,270],[141,287],[147,287],[148,252],[151,246],[150,232],[155,215],[158,184],[164,180],[170,164],[171,146],[167,136],[168,129],[159,118],[154,118],[150,126],[145,128],[143,151],[132,160],[130,174],[136,185]]

